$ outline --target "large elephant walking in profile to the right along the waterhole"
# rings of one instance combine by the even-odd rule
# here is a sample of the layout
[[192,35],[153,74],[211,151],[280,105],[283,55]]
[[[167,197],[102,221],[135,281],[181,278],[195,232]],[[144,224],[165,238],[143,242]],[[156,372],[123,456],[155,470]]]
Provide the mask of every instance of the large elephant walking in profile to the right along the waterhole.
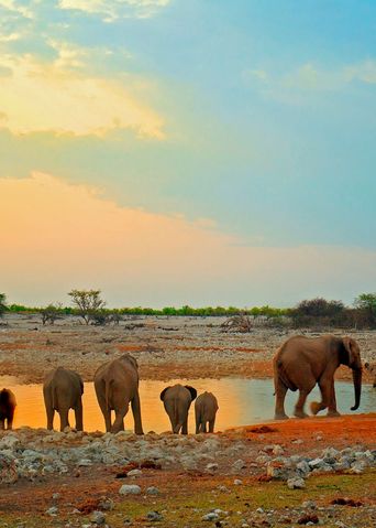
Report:
[[328,416],[339,416],[334,391],[334,373],[340,365],[353,370],[356,410],[361,403],[362,363],[360,347],[351,337],[290,337],[278,349],[274,357],[274,385],[276,395],[275,418],[288,418],[285,413],[285,396],[287,389],[299,390],[295,406],[295,416],[306,418],[305,403],[307,396],[319,384],[321,401],[312,402],[313,414],[328,407]]

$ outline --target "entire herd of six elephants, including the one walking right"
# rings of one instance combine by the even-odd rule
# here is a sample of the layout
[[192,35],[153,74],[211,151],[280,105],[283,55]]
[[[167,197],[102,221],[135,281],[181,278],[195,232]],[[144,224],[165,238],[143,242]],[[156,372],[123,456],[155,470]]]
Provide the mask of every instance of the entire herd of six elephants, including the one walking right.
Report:
[[[321,401],[312,402],[312,414],[328,409],[328,416],[338,416],[334,373],[340,365],[352,369],[356,410],[361,403],[362,362],[360,347],[352,337],[323,335],[320,337],[292,336],[277,351],[273,359],[275,386],[275,419],[288,418],[285,412],[285,397],[288,389],[299,391],[294,414],[306,418],[307,396],[318,384]],[[365,368],[375,376],[376,366],[365,364]],[[124,417],[131,405],[134,418],[134,432],[143,434],[139,394],[139,366],[130,354],[101,365],[93,377],[95,390],[102,411],[106,431],[117,433],[124,430]],[[376,377],[374,387],[376,386]],[[74,409],[76,429],[82,430],[84,382],[74,370],[58,367],[48,373],[43,385],[43,396],[47,414],[47,429],[53,429],[54,413],[60,416],[60,430],[69,425],[68,412]],[[195,402],[196,433],[213,432],[218,401],[211,392],[197,398],[197,390],[180,384],[166,387],[161,400],[168,414],[174,433],[188,433],[188,413]],[[15,397],[9,389],[0,391],[0,429],[12,428]],[[111,412],[114,411],[114,420]]]

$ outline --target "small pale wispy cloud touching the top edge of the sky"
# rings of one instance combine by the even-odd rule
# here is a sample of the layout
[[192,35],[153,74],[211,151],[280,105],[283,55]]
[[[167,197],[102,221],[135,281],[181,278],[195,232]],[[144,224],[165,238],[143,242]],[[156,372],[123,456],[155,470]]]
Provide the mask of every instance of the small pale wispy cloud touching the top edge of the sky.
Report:
[[106,22],[113,22],[123,18],[153,17],[169,2],[170,0],[59,0],[59,7],[95,14]]

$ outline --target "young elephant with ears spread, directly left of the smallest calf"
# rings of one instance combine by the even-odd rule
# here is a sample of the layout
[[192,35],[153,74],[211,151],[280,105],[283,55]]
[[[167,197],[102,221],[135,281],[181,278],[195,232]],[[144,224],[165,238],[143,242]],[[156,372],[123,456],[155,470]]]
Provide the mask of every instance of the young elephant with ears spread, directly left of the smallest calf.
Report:
[[188,434],[188,411],[190,403],[197,397],[197,390],[189,385],[180,384],[166,387],[161,392],[161,399],[172,422],[173,432]]

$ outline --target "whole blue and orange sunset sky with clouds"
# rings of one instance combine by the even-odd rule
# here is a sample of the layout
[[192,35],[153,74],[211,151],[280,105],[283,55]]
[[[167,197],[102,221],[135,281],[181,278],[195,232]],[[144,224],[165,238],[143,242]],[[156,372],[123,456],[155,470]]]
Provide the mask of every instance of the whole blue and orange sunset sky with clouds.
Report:
[[375,141],[373,0],[0,0],[0,291],[352,303]]

